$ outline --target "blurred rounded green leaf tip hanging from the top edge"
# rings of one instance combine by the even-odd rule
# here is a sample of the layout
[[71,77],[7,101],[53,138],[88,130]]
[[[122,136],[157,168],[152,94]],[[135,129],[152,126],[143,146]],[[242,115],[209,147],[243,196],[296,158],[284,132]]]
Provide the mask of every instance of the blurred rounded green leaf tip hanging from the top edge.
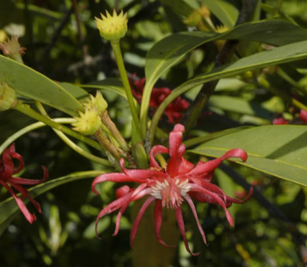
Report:
[[233,27],[237,21],[239,12],[235,6],[222,0],[202,0],[204,5],[207,5],[209,10],[228,27]]

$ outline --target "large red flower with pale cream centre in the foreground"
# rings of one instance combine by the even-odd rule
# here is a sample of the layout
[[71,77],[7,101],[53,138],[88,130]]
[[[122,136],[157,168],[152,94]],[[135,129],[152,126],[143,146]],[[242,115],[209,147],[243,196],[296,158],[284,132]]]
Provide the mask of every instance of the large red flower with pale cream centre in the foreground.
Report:
[[[114,231],[114,236],[118,233],[120,226],[120,218],[124,213],[126,207],[129,203],[141,199],[143,196],[148,195],[148,199],[144,202],[139,213],[135,218],[135,222],[131,229],[131,247],[133,245],[133,240],[139,227],[139,222],[150,203],[155,201],[155,235],[157,240],[163,245],[168,247],[168,244],[162,240],[160,236],[160,229],[162,225],[162,208],[168,207],[174,209],[176,214],[176,219],[178,227],[181,231],[181,236],[185,242],[185,247],[189,253],[189,245],[187,242],[187,237],[185,235],[185,225],[183,222],[183,214],[181,211],[181,204],[183,201],[187,201],[193,215],[196,219],[198,229],[202,235],[202,239],[206,244],[206,238],[204,236],[204,231],[198,220],[198,215],[196,213],[196,207],[193,204],[191,197],[200,201],[202,203],[214,203],[218,204],[224,208],[226,212],[226,218],[230,225],[233,226],[233,220],[228,212],[227,207],[230,207],[232,203],[244,203],[248,201],[252,196],[252,188],[247,198],[243,201],[233,199],[218,187],[211,183],[211,178],[213,177],[213,172],[219,164],[230,157],[239,157],[241,160],[247,160],[247,153],[241,149],[232,149],[225,153],[222,157],[209,162],[198,162],[194,166],[191,162],[185,160],[183,154],[185,153],[185,145],[183,141],[183,131],[185,127],[183,125],[177,124],[174,130],[170,133],[170,148],[163,147],[161,145],[156,145],[150,150],[150,166],[148,170],[127,170],[124,167],[124,160],[120,160],[123,173],[107,173],[96,177],[92,183],[92,190],[96,194],[98,192],[95,189],[97,183],[102,183],[104,181],[114,181],[114,182],[135,182],[140,183],[137,188],[129,188],[129,186],[122,186],[116,190],[116,201],[113,201],[103,208],[96,218],[96,227],[99,218],[115,212],[119,209],[118,216],[116,219],[116,229]],[[170,155],[170,160],[166,168],[161,168],[155,156],[159,153],[168,153]],[[97,231],[96,231],[96,236]],[[191,255],[198,255],[198,253],[191,253]]]

